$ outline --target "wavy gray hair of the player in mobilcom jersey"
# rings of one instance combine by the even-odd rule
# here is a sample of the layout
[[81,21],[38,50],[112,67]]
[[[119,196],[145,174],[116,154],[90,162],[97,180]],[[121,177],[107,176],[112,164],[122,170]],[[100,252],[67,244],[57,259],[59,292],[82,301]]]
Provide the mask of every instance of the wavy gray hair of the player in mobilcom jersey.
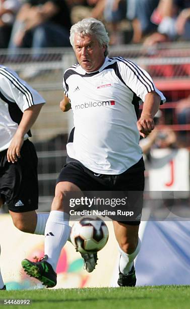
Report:
[[104,24],[101,21],[90,17],[84,18],[83,20],[73,25],[70,30],[70,42],[73,46],[73,49],[75,49],[75,33],[81,33],[82,35],[95,35],[100,46],[106,45],[104,56],[106,57],[108,55],[109,36],[105,30]]

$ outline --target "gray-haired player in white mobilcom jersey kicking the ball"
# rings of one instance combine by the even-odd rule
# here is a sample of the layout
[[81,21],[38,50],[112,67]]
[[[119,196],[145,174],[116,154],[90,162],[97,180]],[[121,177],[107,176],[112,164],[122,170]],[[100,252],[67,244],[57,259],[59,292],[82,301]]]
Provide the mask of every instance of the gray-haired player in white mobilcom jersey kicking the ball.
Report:
[[[165,97],[135,63],[107,57],[109,37],[100,21],[79,21],[71,28],[70,41],[79,64],[64,74],[63,110],[72,108],[75,128],[67,144],[69,160],[57,179],[45,228],[45,233],[53,236],[45,237],[41,261],[26,259],[22,266],[47,287],[56,285],[57,261],[69,235],[67,191],[139,191],[133,194],[133,210],[139,204],[134,221],[113,219],[120,253],[118,285],[135,286],[134,259],[141,247],[138,231],[144,190],[139,138],[154,129],[153,117]],[[140,101],[144,105],[138,120]],[[95,263],[96,258],[95,254]]]

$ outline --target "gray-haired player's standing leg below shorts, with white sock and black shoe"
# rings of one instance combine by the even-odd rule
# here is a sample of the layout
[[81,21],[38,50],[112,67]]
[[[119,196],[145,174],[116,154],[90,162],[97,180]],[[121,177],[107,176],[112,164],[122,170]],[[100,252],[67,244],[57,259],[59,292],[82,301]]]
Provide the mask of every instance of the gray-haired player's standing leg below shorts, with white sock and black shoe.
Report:
[[138,236],[139,225],[113,221],[113,227],[120,253],[118,285],[135,286],[134,260],[141,248],[141,241]]

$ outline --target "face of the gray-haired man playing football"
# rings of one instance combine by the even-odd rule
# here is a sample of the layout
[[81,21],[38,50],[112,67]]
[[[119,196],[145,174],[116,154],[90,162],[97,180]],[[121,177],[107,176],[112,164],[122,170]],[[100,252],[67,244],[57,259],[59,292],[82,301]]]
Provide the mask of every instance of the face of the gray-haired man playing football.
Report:
[[100,46],[95,35],[75,34],[75,54],[86,72],[97,71],[104,63],[105,46]]

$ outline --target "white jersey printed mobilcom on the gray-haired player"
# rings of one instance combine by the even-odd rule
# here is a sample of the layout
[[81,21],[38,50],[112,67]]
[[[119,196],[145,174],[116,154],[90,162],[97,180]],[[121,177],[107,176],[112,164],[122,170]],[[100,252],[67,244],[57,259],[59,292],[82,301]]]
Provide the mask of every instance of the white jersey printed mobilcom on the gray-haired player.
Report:
[[63,84],[75,125],[68,156],[98,174],[118,175],[136,164],[142,158],[139,102],[153,90],[165,101],[150,75],[130,60],[106,57],[96,72],[72,66]]

